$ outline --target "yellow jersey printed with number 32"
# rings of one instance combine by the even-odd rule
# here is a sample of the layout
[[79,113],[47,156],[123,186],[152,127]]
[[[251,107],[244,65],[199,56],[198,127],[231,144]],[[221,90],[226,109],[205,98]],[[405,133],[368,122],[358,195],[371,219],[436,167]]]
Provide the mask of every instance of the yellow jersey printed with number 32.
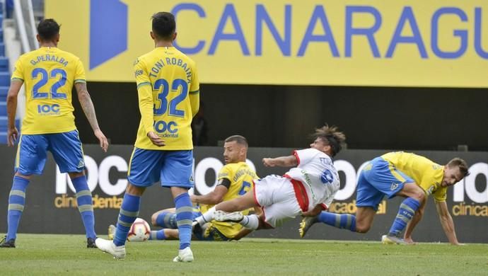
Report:
[[[195,63],[175,47],[156,47],[134,63],[141,122],[135,146],[139,149],[193,149],[192,118],[199,108]],[[165,146],[147,137],[155,132]]]

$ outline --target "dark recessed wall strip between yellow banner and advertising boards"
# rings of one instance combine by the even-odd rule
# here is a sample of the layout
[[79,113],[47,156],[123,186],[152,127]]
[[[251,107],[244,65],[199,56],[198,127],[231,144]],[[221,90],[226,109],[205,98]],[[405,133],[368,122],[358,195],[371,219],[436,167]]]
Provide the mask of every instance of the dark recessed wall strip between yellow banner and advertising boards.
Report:
[[[135,83],[88,84],[102,130],[132,144],[140,114]],[[294,147],[324,122],[347,134],[349,149],[488,151],[486,88],[262,86],[202,84],[206,146],[243,134],[252,146]],[[96,143],[73,97],[81,140]]]

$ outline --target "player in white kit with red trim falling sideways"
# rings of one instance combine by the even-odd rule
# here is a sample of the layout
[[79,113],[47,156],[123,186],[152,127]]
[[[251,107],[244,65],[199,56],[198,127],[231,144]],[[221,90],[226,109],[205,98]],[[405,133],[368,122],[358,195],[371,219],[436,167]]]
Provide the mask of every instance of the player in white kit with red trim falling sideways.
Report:
[[[302,214],[315,216],[327,209],[339,190],[339,175],[331,157],[345,141],[337,127],[315,130],[310,149],[294,151],[294,155],[262,159],[265,166],[291,168],[284,176],[267,176],[255,180],[254,189],[242,197],[221,202],[196,220],[200,225],[217,221],[239,222],[247,229],[271,229]],[[262,214],[244,216],[241,211],[262,207]]]

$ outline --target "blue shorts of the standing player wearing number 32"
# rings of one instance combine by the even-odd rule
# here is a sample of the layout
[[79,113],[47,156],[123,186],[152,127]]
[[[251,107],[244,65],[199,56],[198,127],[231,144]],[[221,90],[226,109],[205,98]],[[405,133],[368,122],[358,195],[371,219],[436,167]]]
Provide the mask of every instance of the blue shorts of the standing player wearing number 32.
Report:
[[193,188],[193,151],[158,151],[134,148],[127,171],[129,183],[149,187]]

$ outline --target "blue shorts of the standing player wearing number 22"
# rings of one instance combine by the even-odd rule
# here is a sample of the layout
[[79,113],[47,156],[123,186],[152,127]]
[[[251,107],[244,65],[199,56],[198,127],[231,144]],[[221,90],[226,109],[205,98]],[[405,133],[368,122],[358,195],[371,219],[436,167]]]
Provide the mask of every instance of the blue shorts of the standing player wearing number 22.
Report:
[[85,169],[78,130],[54,134],[23,134],[17,146],[15,171],[25,176],[41,174],[51,151],[62,173],[81,173]]

